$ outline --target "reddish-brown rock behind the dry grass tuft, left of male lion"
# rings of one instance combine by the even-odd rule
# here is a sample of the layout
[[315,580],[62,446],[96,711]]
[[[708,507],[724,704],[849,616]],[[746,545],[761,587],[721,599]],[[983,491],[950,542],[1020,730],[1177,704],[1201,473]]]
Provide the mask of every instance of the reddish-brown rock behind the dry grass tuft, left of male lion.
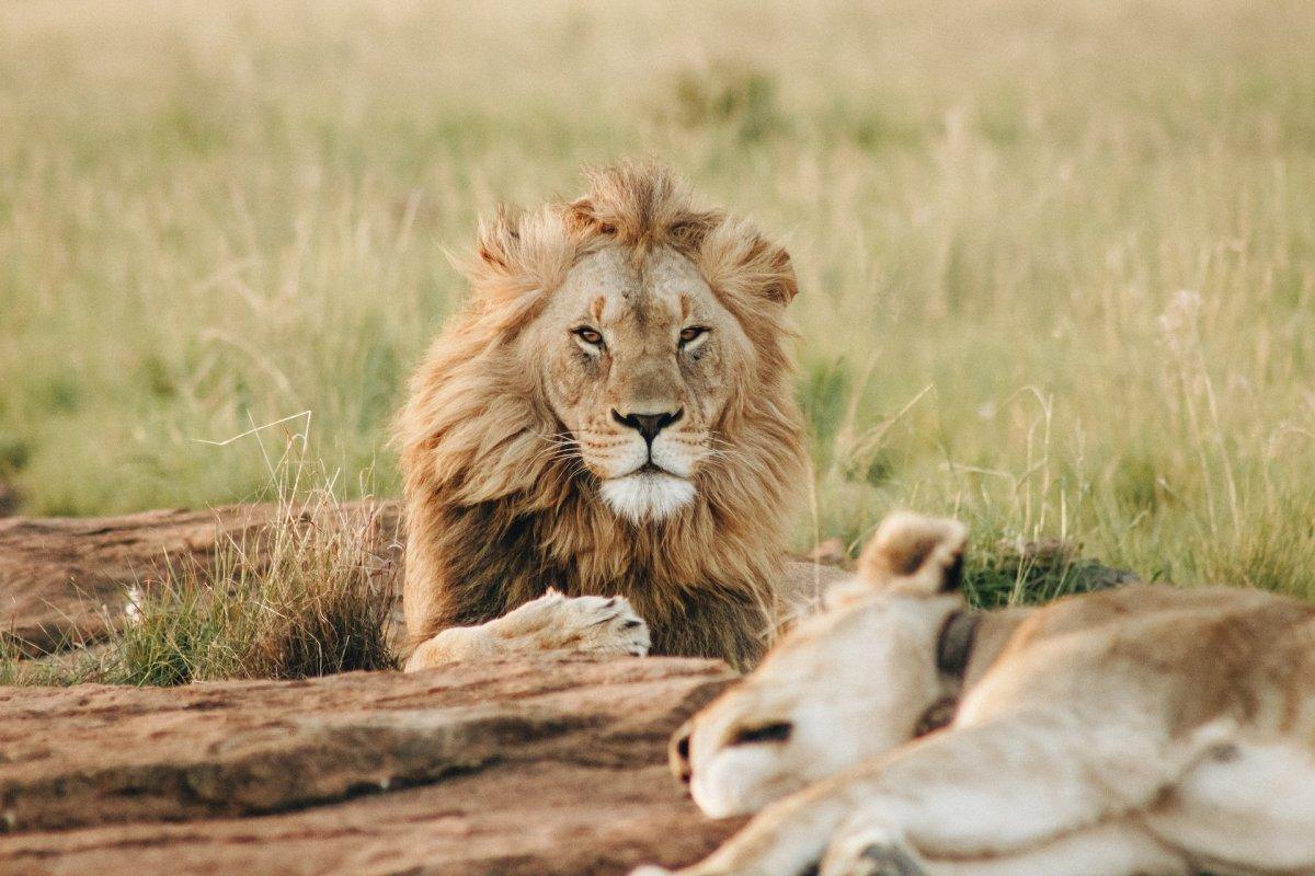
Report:
[[[380,549],[396,552],[396,503],[346,503],[342,510],[377,510]],[[158,575],[166,557],[206,563],[225,537],[255,537],[285,512],[275,504],[242,504],[0,520],[0,634],[28,654],[95,642],[118,623],[128,587]]]

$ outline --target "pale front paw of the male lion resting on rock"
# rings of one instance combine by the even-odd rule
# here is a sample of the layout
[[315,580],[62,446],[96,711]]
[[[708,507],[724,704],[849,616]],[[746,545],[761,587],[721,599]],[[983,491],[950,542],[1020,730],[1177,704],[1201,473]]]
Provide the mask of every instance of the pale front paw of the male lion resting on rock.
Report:
[[648,624],[625,596],[564,596],[550,590],[494,623],[501,637],[527,650],[643,657],[651,646]]

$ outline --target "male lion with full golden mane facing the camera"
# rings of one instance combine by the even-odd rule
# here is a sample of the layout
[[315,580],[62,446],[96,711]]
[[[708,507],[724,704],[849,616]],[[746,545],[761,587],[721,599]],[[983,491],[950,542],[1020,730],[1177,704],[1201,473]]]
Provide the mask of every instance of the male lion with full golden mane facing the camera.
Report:
[[752,665],[810,577],[784,565],[806,473],[786,251],[622,163],[500,210],[462,267],[469,301],[396,427],[408,668],[562,647]]

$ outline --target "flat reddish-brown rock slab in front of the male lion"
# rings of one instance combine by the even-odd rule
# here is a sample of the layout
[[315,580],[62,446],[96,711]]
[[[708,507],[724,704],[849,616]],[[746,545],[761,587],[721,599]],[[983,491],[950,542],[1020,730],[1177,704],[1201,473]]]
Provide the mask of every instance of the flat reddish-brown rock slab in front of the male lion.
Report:
[[625,873],[740,822],[667,775],[715,661],[0,688],[0,873]]

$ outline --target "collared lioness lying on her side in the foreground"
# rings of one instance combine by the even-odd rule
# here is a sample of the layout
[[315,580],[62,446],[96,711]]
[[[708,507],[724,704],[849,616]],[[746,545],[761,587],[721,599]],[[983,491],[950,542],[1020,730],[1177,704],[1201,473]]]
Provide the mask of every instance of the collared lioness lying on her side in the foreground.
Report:
[[681,876],[1315,872],[1315,605],[1131,584],[970,611],[965,540],[889,519],[860,583],[677,732],[705,812],[761,809]]

